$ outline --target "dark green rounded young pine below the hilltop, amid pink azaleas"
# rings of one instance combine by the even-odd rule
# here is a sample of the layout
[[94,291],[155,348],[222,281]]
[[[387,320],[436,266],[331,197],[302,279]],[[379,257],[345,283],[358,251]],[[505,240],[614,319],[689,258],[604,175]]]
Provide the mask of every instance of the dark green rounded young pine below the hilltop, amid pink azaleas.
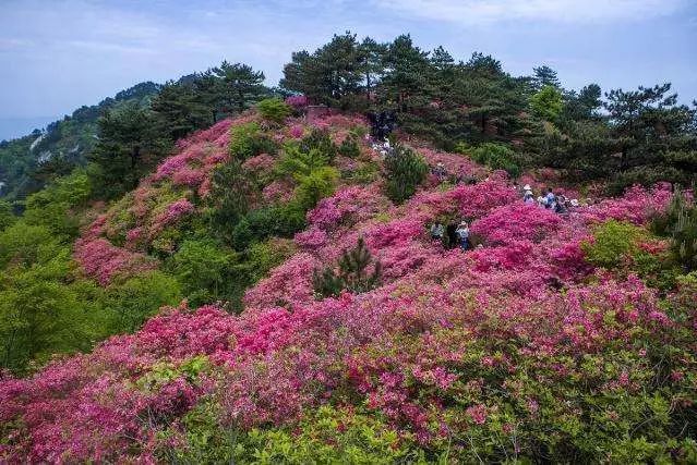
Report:
[[429,172],[423,158],[413,150],[397,146],[384,161],[386,194],[393,201],[401,204],[410,198]]

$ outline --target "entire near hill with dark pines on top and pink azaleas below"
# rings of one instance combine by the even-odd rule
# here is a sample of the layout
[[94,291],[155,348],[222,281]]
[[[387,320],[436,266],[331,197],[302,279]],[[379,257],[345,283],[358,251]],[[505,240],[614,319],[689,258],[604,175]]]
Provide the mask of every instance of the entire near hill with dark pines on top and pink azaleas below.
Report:
[[409,36],[263,82],[0,201],[0,462],[697,461],[697,108]]

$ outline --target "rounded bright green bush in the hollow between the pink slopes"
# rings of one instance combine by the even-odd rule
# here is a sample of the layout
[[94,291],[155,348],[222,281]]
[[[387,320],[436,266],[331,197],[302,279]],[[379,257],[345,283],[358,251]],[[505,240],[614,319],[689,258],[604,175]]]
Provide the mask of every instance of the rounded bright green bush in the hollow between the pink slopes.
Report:
[[190,304],[200,306],[227,295],[235,260],[235,254],[215,241],[189,240],[171,256],[167,268],[177,277]]

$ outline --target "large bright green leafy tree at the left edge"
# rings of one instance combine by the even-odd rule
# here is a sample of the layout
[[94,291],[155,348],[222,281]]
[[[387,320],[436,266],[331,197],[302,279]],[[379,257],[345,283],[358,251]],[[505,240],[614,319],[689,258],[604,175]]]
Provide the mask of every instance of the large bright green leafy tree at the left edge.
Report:
[[22,372],[31,360],[91,346],[97,315],[69,279],[70,247],[17,221],[0,233],[0,268],[1,368]]

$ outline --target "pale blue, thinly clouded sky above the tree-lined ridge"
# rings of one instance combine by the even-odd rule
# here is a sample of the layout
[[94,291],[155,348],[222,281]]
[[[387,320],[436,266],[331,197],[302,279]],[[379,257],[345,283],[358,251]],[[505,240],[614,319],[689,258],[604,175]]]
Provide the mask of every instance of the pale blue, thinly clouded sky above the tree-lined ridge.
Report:
[[673,83],[697,99],[697,0],[0,0],[0,139],[143,81],[224,59],[277,84],[292,51],[335,33],[480,51],[566,88]]

